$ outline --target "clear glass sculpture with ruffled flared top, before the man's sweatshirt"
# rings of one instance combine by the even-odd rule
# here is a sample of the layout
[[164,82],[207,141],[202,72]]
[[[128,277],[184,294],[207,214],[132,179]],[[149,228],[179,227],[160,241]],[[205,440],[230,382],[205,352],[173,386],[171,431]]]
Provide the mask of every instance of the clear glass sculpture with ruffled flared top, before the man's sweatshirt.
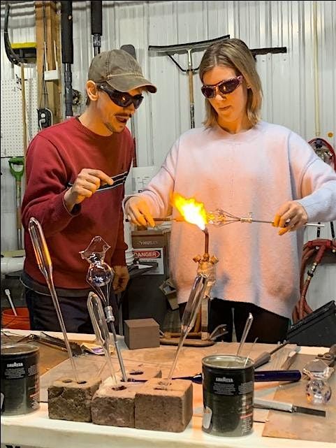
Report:
[[110,246],[101,236],[95,236],[87,248],[80,252],[82,259],[89,263],[87,282],[101,298],[104,307],[109,305],[110,288],[114,276],[112,268],[104,261],[109,249]]

